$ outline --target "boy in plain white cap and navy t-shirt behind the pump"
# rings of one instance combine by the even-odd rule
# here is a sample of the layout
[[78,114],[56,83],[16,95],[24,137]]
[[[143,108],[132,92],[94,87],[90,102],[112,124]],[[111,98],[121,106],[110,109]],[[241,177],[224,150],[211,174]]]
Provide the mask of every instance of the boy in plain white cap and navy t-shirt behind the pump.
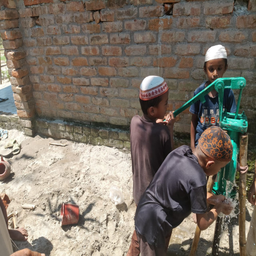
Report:
[[[214,45],[208,49],[204,58],[204,73],[208,77],[208,81],[201,84],[194,96],[203,91],[205,87],[211,84],[217,78],[221,78],[228,68],[227,52],[222,45]],[[191,148],[194,150],[198,144],[201,134],[211,125],[219,126],[219,96],[215,90],[204,96],[205,102],[198,100],[194,103],[189,111],[192,113],[190,139]],[[229,113],[236,112],[236,101],[234,93],[231,89],[224,90],[223,109],[227,109]]]

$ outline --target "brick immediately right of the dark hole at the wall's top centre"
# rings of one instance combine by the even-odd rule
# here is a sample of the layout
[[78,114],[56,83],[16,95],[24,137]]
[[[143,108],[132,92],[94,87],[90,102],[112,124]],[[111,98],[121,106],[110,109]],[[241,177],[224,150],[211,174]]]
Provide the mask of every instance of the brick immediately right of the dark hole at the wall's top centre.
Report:
[[200,15],[201,13],[201,4],[200,3],[193,3],[193,2],[183,2],[183,3],[177,3],[173,4],[173,16],[181,16],[181,15],[187,15],[187,16],[196,16]]

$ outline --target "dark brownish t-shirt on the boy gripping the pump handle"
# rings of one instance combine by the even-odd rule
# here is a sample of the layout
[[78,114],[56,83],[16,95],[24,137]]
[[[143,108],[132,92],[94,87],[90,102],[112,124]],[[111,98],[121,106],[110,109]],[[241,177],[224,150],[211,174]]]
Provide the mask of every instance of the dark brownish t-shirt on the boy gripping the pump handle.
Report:
[[130,125],[133,198],[140,201],[155,173],[171,152],[171,137],[166,125],[133,116]]

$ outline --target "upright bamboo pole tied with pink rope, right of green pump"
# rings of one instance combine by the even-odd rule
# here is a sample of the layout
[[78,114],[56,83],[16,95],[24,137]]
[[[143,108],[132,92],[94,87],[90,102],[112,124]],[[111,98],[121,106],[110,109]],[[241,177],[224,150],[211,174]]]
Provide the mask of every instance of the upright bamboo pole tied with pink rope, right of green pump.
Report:
[[[240,134],[240,151],[239,151],[239,163],[241,167],[247,165],[247,144],[248,135]],[[247,173],[239,173],[239,248],[240,256],[246,256],[246,237],[245,237],[245,211],[246,211],[246,176]]]

